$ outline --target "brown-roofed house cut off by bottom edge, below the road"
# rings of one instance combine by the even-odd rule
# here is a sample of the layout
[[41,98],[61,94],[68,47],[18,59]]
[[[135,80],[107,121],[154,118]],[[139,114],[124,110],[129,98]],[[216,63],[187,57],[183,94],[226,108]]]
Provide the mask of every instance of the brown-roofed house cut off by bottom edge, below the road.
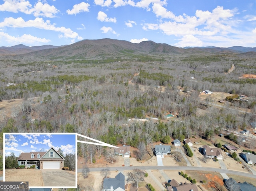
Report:
[[198,188],[195,184],[191,183],[178,183],[176,180],[172,179],[169,182],[170,186],[167,186],[167,191],[198,191]]

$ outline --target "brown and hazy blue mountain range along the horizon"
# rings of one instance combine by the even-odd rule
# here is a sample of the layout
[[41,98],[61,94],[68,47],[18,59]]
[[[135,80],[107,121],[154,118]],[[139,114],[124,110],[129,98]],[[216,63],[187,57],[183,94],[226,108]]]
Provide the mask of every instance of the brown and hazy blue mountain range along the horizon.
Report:
[[[28,47],[26,45],[15,45],[11,47],[0,47],[0,56],[29,56],[41,58],[100,58],[110,55],[121,56],[130,54],[194,54],[194,53],[248,53],[256,52],[256,47],[233,46],[223,47],[174,47],[165,43],[155,43],[153,41],[142,41],[131,43],[116,39],[82,40],[70,45],[53,46],[42,45]],[[253,53],[255,54],[255,53]]]

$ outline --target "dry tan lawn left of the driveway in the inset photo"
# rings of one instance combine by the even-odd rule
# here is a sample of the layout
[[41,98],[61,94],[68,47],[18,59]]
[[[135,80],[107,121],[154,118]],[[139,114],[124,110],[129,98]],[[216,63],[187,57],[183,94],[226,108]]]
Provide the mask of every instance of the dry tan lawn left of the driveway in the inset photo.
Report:
[[44,186],[42,172],[38,169],[6,169],[5,181],[28,181],[29,186]]

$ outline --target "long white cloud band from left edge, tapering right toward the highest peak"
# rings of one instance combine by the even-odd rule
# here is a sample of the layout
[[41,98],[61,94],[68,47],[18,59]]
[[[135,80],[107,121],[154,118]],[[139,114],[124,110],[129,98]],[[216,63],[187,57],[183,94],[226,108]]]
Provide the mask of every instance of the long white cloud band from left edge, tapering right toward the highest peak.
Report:
[[55,32],[63,33],[59,35],[60,38],[77,38],[81,39],[78,33],[73,32],[70,28],[56,27],[55,24],[51,24],[49,20],[44,20],[42,18],[35,18],[34,20],[24,21],[23,18],[5,18],[3,22],[0,23],[0,28],[12,27],[12,28],[24,28],[24,27],[34,27],[43,30],[51,30]]

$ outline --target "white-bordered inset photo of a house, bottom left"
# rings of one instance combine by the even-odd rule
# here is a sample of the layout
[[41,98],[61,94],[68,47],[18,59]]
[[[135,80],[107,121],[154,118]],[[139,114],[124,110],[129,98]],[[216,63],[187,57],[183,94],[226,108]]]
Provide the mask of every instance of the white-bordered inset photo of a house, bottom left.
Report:
[[77,187],[76,133],[4,133],[4,181]]

